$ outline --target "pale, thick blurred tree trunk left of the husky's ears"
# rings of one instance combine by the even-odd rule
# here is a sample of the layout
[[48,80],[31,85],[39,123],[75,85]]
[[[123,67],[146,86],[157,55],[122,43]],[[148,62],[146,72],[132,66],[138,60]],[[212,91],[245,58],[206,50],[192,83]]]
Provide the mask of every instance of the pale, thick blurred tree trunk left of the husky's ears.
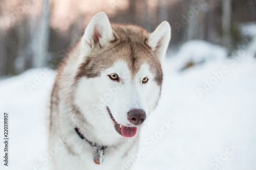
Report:
[[49,0],[44,0],[42,1],[41,16],[37,27],[37,31],[32,41],[34,67],[45,66],[47,62],[50,35],[49,19]]

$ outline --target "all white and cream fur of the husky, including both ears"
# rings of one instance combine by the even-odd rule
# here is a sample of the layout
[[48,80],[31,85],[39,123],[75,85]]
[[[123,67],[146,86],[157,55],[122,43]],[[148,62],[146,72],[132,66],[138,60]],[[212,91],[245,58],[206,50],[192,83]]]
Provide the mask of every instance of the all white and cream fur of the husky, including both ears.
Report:
[[[94,43],[95,30],[100,33],[96,44]],[[161,23],[150,35],[149,44],[161,61],[164,58],[169,37],[170,28],[167,22]],[[113,38],[108,17],[102,12],[96,14],[89,23],[81,42],[69,54],[67,65],[59,75],[58,87],[61,90],[57,93],[60,100],[56,108],[52,110],[53,125],[49,152],[58,141],[65,142],[65,147],[58,150],[57,155],[51,158],[55,165],[53,169],[127,169],[127,165],[124,164],[127,164],[131,155],[137,152],[139,126],[134,137],[127,139],[121,136],[114,128],[106,106],[111,109],[117,123],[123,126],[132,126],[127,120],[127,112],[131,109],[142,109],[148,115],[154,109],[161,90],[161,87],[153,80],[154,75],[150,66],[146,63],[142,64],[137,74],[132,76],[127,63],[118,60],[113,66],[102,71],[99,77],[83,77],[79,79],[76,86],[73,84],[80,64]],[[121,80],[119,83],[108,77],[113,73],[118,74]],[[144,77],[148,78],[146,84],[142,84]],[[74,94],[74,104],[90,125],[84,125],[81,119],[72,113],[66,101],[67,95],[71,93]],[[82,140],[75,133],[74,128],[77,125],[87,130],[84,136],[88,140],[109,146],[105,150],[104,162],[101,165],[93,162],[93,156],[97,152],[96,148],[91,147],[87,141]],[[70,149],[74,153],[70,153]],[[126,152],[128,154],[125,155]]]

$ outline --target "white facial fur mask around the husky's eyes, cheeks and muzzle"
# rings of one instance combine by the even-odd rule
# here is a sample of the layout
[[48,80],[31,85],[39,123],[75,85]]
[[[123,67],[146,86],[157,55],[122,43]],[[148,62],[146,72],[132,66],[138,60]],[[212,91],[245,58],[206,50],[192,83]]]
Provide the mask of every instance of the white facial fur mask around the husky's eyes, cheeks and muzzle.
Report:
[[[113,73],[119,76],[120,83],[109,78],[108,75]],[[146,84],[142,84],[144,77],[148,78]],[[142,64],[136,76],[132,77],[127,63],[117,61],[114,66],[104,70],[100,77],[82,78],[75,92],[75,103],[92,124],[100,124],[108,131],[108,134],[101,134],[101,126],[95,133],[101,134],[99,136],[105,142],[113,143],[120,135],[114,129],[106,106],[110,108],[118,124],[133,126],[127,119],[127,112],[137,108],[148,114],[153,109],[152,106],[155,106],[159,93],[160,87],[153,81],[153,74],[147,64]],[[109,124],[105,124],[106,120]],[[113,134],[112,138],[109,134]]]

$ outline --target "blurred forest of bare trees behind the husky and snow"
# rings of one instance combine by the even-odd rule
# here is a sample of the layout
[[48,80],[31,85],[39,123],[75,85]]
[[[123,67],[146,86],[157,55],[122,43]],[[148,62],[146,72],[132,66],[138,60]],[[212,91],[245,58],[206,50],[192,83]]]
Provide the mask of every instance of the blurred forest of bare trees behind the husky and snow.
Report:
[[193,39],[231,53],[243,40],[241,23],[256,21],[255,0],[0,0],[0,77],[32,67],[56,68],[100,11],[112,22],[133,23],[149,32],[167,20],[172,53]]

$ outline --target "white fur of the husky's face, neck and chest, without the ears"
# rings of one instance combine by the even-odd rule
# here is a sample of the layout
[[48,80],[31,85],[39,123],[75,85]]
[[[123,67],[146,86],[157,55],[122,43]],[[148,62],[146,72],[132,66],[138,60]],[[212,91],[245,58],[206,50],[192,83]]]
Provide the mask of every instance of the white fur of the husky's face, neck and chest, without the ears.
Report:
[[[113,72],[118,74],[122,83],[114,82],[108,77]],[[149,79],[146,84],[141,83],[144,77],[148,77]],[[75,126],[72,123],[73,119],[69,108],[67,108],[65,102],[61,102],[59,104],[60,110],[66,110],[66,113],[62,112],[62,116],[56,117],[56,119],[59,119],[61,122],[59,126],[62,140],[69,143],[78,155],[71,155],[66,148],[59,150],[58,155],[54,157],[57,169],[79,170],[86,167],[86,169],[97,170],[121,169],[124,167],[124,164],[131,159],[131,155],[136,153],[138,142],[134,143],[134,141],[138,141],[139,129],[133,138],[127,139],[119,135],[114,128],[109,113],[106,111],[106,106],[110,107],[114,118],[119,124],[130,126],[131,124],[127,120],[127,111],[133,108],[140,108],[145,110],[148,115],[153,109],[152,105],[154,106],[158,100],[160,87],[152,79],[153,75],[147,64],[142,64],[136,76],[132,77],[127,63],[124,61],[117,61],[112,67],[103,71],[100,77],[90,79],[82,78],[75,89],[74,102],[89,123],[95,125],[92,132],[86,134],[87,139],[103,145],[115,146],[119,144],[119,147],[118,149],[115,147],[107,148],[104,155],[104,162],[101,165],[95,164],[93,162],[93,156],[97,152],[96,148],[92,148],[88,142],[81,140],[74,132]],[[106,94],[111,94],[110,90],[114,91],[110,95],[112,96],[111,100],[105,100],[106,103],[102,102],[97,105],[99,98],[105,98]],[[151,95],[153,95],[153,98]],[[148,99],[149,96],[151,100]],[[93,108],[94,106],[98,109],[95,110]],[[55,142],[59,141],[58,138],[60,137],[54,136],[51,145],[55,145]],[[123,157],[126,150],[129,150],[129,154]]]

